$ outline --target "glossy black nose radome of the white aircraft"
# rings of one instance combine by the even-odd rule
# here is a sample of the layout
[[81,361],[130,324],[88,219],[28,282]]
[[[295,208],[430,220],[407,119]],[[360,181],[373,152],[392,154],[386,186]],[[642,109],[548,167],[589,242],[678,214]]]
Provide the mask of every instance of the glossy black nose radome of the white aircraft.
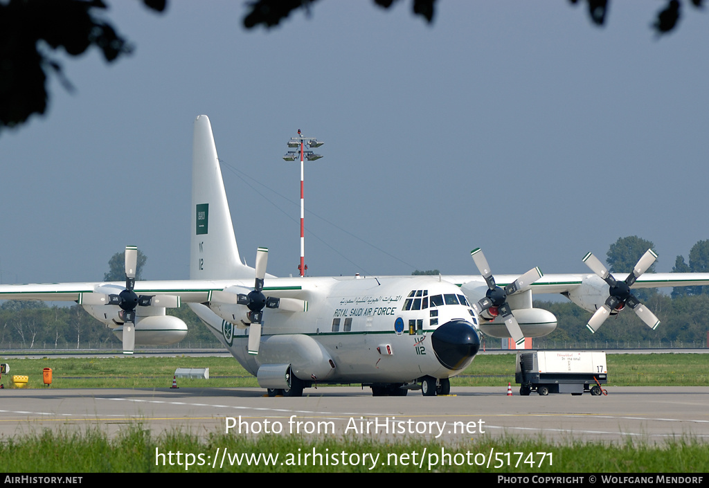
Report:
[[462,370],[480,349],[480,338],[470,323],[462,320],[444,323],[431,334],[438,362],[449,370]]

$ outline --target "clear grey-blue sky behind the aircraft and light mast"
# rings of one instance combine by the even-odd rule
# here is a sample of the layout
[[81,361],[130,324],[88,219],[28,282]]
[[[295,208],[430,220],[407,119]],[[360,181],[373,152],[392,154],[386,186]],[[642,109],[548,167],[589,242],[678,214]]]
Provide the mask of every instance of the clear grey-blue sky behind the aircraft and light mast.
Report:
[[108,4],[134,54],[57,55],[76,91],[52,79],[47,115],[0,135],[6,284],[98,280],[125,245],[145,277],[186,278],[202,113],[234,168],[240,253],[267,246],[274,275],[298,272],[298,163],[281,159],[298,128],[325,141],[306,163],[309,275],[472,274],[476,247],[497,274],[586,272],[625,235],[671,271],[709,238],[706,9],[684,2],[658,39],[663,2],[613,1],[597,28],[567,1],[441,1],[429,26],[409,1],[322,0],[252,31],[242,2]]

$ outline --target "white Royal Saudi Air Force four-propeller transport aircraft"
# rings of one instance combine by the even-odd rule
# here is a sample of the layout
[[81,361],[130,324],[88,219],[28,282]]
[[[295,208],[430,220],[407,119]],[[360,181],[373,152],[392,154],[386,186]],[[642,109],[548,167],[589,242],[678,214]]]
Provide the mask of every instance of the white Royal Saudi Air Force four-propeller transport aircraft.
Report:
[[269,395],[299,397],[315,384],[363,384],[374,395],[448,394],[450,377],[478,353],[480,336],[545,336],[556,328],[549,311],[532,308],[532,290],[561,293],[594,312],[595,331],[630,306],[651,327],[657,318],[632,288],[709,284],[709,274],[647,274],[648,251],[623,280],[592,255],[594,274],[500,275],[496,283],[481,252],[481,275],[288,277],[267,275],[266,248],[255,267],[241,262],[211,124],[194,121],[190,279],[135,282],[137,248],[125,252],[123,283],[0,285],[0,299],[77,301],[111,327],[132,354],[135,344],[174,344],[186,324],[165,309],[188,304]]

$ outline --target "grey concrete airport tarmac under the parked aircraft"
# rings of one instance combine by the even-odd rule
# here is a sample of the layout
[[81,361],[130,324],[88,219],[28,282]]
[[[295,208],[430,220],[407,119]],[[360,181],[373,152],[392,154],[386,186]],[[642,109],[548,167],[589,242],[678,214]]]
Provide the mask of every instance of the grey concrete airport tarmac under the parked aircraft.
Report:
[[[425,438],[466,443],[481,436],[542,436],[552,442],[664,443],[689,436],[709,442],[709,387],[608,387],[607,395],[531,394],[513,387],[455,387],[447,397],[372,397],[369,388],[320,387],[301,398],[258,388],[4,389],[0,436],[45,428],[110,436],[140,422],[154,435],[264,433],[379,440]],[[233,420],[230,420],[233,419]],[[248,432],[247,432],[248,431]]]

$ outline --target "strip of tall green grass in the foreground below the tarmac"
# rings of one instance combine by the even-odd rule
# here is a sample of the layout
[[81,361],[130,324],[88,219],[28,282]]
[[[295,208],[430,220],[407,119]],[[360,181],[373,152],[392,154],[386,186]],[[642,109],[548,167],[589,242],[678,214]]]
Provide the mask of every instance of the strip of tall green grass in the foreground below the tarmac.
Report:
[[[216,457],[217,448],[222,453],[229,453],[231,462],[217,463],[213,467],[211,456]],[[178,452],[182,453],[180,460]],[[160,453],[164,456],[161,457]],[[168,453],[172,453],[172,457],[167,457]],[[267,463],[263,456],[258,457],[259,453],[271,455],[272,460],[274,455],[278,458]],[[305,453],[328,457],[310,457],[308,460]],[[491,464],[487,465],[489,453],[501,455],[491,457]],[[377,456],[376,462],[367,460],[365,454]],[[449,457],[446,458],[445,454]],[[233,457],[235,455],[240,457]],[[43,431],[11,438],[0,443],[0,456],[4,460],[12,459],[9,471],[24,473],[517,472],[531,475],[709,472],[709,445],[689,438],[671,440],[665,445],[638,445],[630,441],[610,445],[570,441],[559,445],[507,437],[481,438],[457,446],[426,440],[384,443],[353,437],[261,436],[255,439],[216,434],[203,440],[183,432],[156,438],[140,424],[133,424],[115,438],[108,438],[96,428],[84,433]],[[422,460],[420,464],[416,456]],[[192,465],[186,465],[188,459]],[[237,459],[240,465],[235,463]]]

